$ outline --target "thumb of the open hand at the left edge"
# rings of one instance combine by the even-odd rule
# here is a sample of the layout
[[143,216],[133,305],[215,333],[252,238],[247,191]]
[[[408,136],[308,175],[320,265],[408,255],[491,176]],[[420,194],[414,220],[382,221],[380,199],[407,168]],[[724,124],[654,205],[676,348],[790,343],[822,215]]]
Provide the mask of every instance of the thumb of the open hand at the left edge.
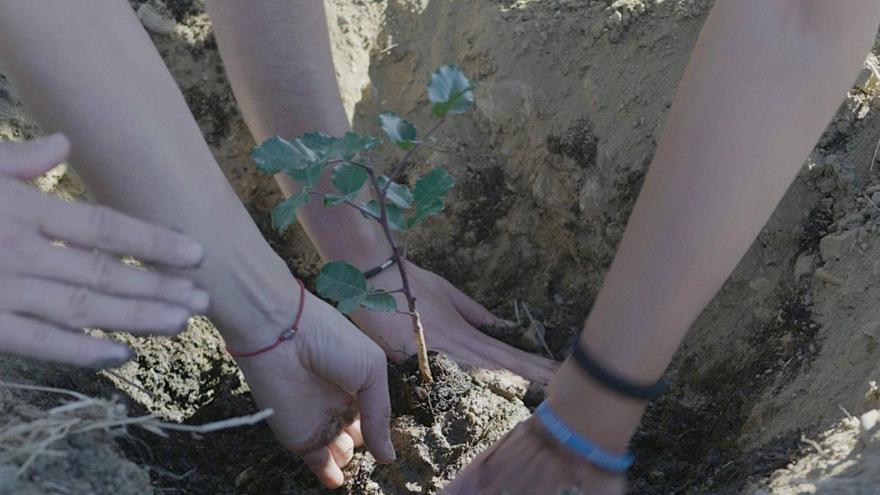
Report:
[[61,133],[25,141],[0,143],[0,175],[33,179],[67,159],[70,142]]

